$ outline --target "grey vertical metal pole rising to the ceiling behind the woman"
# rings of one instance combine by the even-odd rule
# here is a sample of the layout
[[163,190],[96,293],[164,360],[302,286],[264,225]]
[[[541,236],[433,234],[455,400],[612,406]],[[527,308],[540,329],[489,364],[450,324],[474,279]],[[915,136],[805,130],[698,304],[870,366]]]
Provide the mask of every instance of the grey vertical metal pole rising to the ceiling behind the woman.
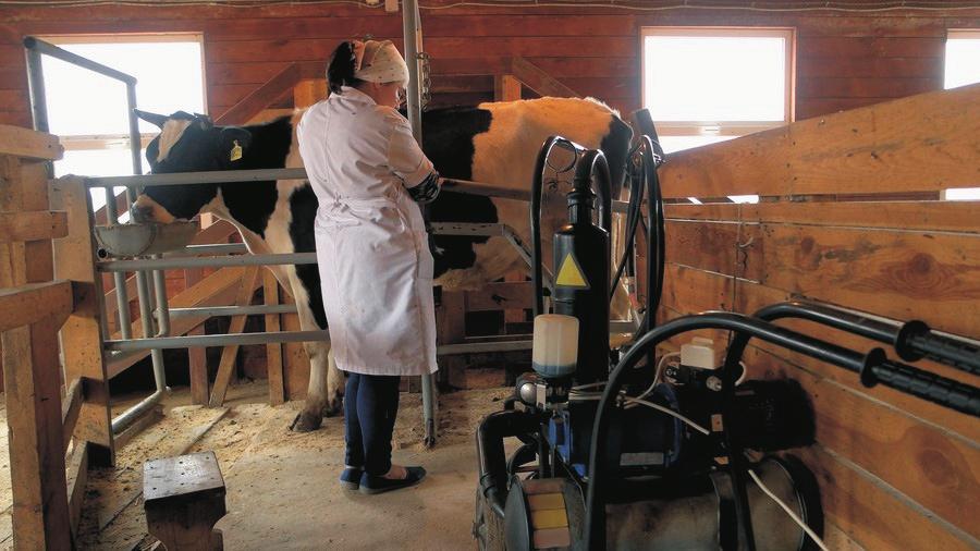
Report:
[[[421,19],[418,15],[418,0],[402,1],[402,29],[405,35],[405,61],[408,64],[408,124],[415,140],[422,144],[421,130],[421,82],[419,81],[419,58],[421,50]],[[422,215],[426,215],[422,209]],[[428,217],[426,217],[428,219]],[[421,376],[422,415],[425,421],[425,445],[436,445],[436,381],[431,374]]]

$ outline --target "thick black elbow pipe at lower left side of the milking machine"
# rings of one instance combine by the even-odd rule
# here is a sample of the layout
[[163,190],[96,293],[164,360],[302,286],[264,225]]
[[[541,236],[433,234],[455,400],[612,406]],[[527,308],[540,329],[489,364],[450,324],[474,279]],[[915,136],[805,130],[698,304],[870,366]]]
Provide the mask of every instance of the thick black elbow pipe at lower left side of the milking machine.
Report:
[[480,491],[501,518],[507,499],[507,460],[503,439],[535,432],[537,427],[537,417],[527,412],[503,411],[485,417],[477,429]]

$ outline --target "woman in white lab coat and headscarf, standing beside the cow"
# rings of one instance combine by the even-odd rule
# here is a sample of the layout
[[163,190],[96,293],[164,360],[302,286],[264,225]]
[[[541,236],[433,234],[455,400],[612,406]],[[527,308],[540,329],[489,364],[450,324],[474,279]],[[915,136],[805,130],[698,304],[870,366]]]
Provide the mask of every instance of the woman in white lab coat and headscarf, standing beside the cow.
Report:
[[416,203],[439,175],[397,112],[408,68],[391,41],[342,42],[330,97],[299,122],[299,151],[319,200],[317,261],[344,394],[345,488],[379,493],[417,483],[391,463],[401,376],[436,371],[432,255]]

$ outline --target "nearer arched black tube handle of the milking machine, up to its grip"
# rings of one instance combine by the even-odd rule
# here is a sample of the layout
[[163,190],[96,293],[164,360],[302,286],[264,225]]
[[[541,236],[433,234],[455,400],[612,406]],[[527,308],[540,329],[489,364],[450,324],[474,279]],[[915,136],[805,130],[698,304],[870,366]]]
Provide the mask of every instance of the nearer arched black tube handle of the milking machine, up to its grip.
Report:
[[[610,375],[592,425],[592,440],[589,448],[589,485],[586,493],[585,539],[590,550],[605,549],[605,495],[604,486],[612,469],[607,467],[605,441],[609,439],[608,411],[618,400],[624,374],[630,372],[636,364],[659,343],[681,333],[697,329],[725,329],[758,336],[793,352],[860,371],[867,364],[866,356],[832,343],[791,331],[771,323],[733,313],[706,313],[684,316],[671,320],[645,334],[623,357]],[[652,367],[652,366],[651,366]],[[728,370],[727,365],[722,369]],[[725,420],[727,423],[727,420]]]

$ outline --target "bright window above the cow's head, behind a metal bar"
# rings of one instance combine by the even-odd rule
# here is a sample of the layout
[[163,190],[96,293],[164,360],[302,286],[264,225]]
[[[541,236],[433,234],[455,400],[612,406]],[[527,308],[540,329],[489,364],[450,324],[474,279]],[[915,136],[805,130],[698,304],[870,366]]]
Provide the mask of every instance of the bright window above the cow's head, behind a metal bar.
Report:
[[[205,113],[201,35],[53,36],[46,40],[137,79],[136,105],[144,110]],[[133,173],[126,87],[123,83],[45,56],[41,61],[50,132],[61,137],[64,158],[56,175]],[[139,122],[142,146],[159,128]],[[143,171],[148,171],[143,159]],[[122,193],[117,189],[117,194]],[[93,206],[105,194],[93,191]]]

